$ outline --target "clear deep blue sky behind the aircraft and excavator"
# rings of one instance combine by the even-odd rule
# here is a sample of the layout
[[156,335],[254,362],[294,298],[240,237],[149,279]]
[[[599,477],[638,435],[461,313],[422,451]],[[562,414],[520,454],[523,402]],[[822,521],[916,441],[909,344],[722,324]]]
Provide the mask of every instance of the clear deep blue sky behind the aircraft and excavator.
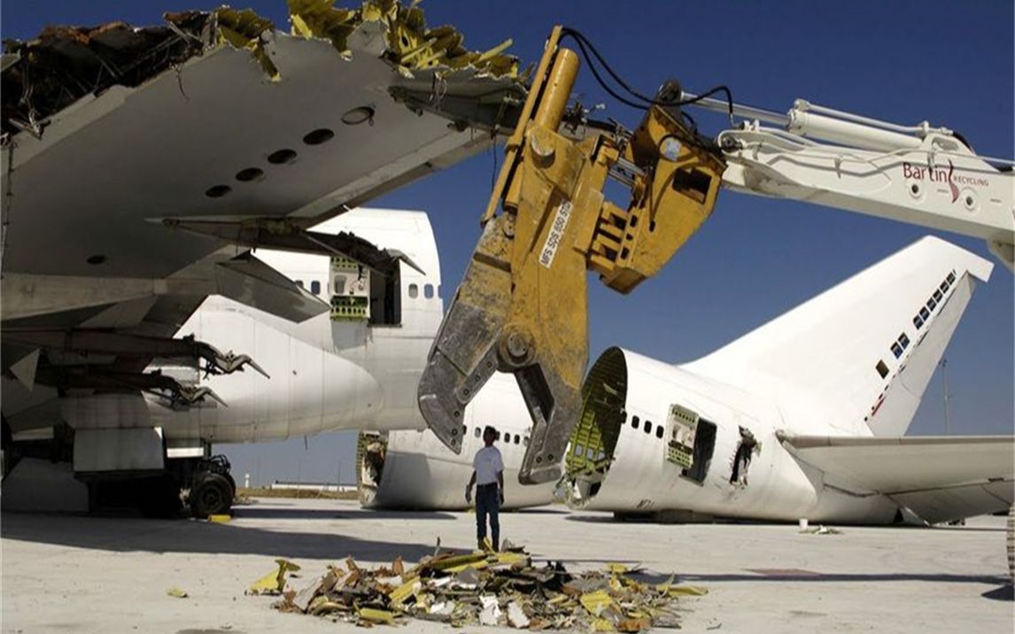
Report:
[[[340,3],[341,4],[341,3]],[[161,2],[9,2],[4,38],[50,22],[160,21]],[[252,2],[286,27],[284,2]],[[627,7],[627,8],[624,8]],[[960,131],[982,155],[1013,153],[1013,3],[943,2],[492,2],[423,3],[431,25],[453,23],[466,45],[538,61],[554,23],[584,31],[628,82],[653,92],[676,78],[700,92],[724,83],[734,98],[773,111],[794,98],[899,124],[929,120]],[[602,93],[585,72],[578,92],[633,126],[639,114]],[[705,132],[721,119],[697,117]],[[498,150],[499,152],[499,150]],[[499,162],[499,154],[497,156]],[[445,288],[458,283],[478,236],[493,156],[486,153],[376,201],[430,212]],[[622,345],[667,361],[696,358],[927,234],[920,227],[803,203],[726,192],[713,218],[656,278],[622,297],[590,279],[590,360]],[[991,257],[976,239],[939,233]],[[996,261],[995,261],[996,262]],[[450,295],[451,293],[446,293]],[[1000,264],[974,295],[946,354],[955,433],[1012,433],[1013,277]],[[940,373],[909,433],[944,431]],[[334,480],[352,476],[349,434],[227,447],[240,474]],[[339,467],[344,464],[345,467]]]

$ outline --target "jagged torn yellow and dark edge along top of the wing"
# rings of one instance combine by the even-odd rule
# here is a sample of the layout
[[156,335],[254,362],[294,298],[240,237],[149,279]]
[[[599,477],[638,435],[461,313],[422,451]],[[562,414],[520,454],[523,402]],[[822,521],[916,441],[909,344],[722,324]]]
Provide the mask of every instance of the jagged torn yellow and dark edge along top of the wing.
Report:
[[[326,40],[347,57],[355,48],[348,44],[352,39],[357,45],[376,41],[376,53],[407,78],[413,71],[444,77],[471,69],[477,76],[524,79],[518,58],[503,53],[511,40],[486,52],[469,51],[454,27],[428,28],[417,6],[367,0],[357,9],[338,9],[333,3],[289,0],[293,34]],[[121,21],[56,25],[26,42],[5,40],[3,134],[26,131],[41,137],[50,117],[86,95],[116,85],[139,86],[222,47],[249,51],[269,79],[281,79],[271,56],[275,25],[254,11],[223,6],[162,17],[165,24],[160,26],[134,27]]]

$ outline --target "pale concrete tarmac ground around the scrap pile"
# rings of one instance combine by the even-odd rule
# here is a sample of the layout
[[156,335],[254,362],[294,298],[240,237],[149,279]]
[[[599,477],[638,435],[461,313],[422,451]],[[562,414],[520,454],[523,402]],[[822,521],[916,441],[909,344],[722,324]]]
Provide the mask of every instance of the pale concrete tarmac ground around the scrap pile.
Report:
[[[2,630],[28,632],[336,632],[355,626],[279,614],[245,588],[273,558],[303,566],[300,587],[327,563],[406,561],[442,546],[467,550],[473,515],[361,510],[354,502],[262,499],[227,524],[4,513]],[[659,525],[559,506],[501,516],[502,537],[570,569],[611,561],[705,586],[684,598],[685,631],[1013,631],[1003,517],[940,529],[840,527],[802,535],[789,524]],[[190,596],[175,598],[179,586]],[[406,632],[451,627],[404,621]],[[468,632],[510,631],[466,628]]]

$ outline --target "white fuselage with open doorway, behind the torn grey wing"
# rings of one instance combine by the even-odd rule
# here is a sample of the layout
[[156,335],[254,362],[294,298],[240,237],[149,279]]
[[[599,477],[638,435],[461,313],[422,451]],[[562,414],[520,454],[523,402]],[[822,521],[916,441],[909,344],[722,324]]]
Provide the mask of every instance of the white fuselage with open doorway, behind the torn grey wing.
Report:
[[[163,368],[208,386],[226,404],[205,399],[176,410],[148,398],[152,424],[171,445],[187,441],[253,442],[336,429],[413,429],[425,426],[416,407],[416,383],[443,313],[439,263],[426,216],[354,210],[318,230],[351,231],[383,249],[406,254],[393,323],[333,320],[329,312],[300,324],[239,302],[208,297],[181,328],[222,351],[250,355],[270,376],[248,367],[198,376],[193,368]],[[258,257],[329,301],[330,259],[258,252]],[[315,292],[316,291],[316,292]]]

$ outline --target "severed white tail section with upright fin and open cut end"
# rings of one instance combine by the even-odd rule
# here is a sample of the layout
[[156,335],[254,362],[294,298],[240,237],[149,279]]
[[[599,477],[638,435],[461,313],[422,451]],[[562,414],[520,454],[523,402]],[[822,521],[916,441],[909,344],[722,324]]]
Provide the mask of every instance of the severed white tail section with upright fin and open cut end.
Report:
[[872,488],[817,469],[787,438],[902,436],[991,268],[928,237],[692,363],[607,350],[583,388],[565,459],[568,502],[630,513],[896,519],[904,504],[889,492],[925,486],[906,484],[920,481],[903,467],[882,469],[891,475]]

